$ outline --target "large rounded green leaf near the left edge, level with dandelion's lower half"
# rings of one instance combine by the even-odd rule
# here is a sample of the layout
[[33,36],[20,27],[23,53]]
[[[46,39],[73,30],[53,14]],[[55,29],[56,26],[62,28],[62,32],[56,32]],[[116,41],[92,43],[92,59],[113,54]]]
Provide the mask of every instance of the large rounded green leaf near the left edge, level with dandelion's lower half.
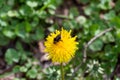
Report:
[[5,53],[5,60],[8,64],[13,64],[13,62],[18,62],[20,59],[20,54],[15,49],[9,48]]

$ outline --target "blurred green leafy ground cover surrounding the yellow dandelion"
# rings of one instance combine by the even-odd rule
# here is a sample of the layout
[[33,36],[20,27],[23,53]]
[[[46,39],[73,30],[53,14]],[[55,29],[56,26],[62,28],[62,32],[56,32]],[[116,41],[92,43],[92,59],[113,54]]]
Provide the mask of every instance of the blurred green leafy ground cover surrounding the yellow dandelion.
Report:
[[[0,80],[59,80],[59,66],[43,58],[41,44],[61,27],[79,42],[65,80],[120,80],[119,5],[120,0],[0,0]],[[87,46],[83,63],[84,46],[106,29],[111,30]]]

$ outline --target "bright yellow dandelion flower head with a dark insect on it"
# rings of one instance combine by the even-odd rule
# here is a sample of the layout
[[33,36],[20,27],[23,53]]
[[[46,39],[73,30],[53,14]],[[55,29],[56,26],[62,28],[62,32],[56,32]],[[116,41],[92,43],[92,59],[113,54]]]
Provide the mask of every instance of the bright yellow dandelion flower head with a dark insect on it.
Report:
[[71,36],[71,30],[68,32],[62,28],[51,33],[45,41],[45,52],[48,53],[52,62],[67,63],[75,55],[77,50],[76,37]]

